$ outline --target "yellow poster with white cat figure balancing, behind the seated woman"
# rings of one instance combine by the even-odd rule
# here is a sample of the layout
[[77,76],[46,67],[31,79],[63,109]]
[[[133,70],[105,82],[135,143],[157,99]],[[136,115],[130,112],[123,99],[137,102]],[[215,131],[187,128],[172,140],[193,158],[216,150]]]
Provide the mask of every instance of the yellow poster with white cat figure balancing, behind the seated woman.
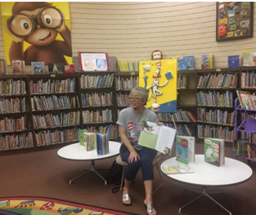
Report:
[[177,111],[177,59],[140,61],[139,86],[149,90],[146,108]]

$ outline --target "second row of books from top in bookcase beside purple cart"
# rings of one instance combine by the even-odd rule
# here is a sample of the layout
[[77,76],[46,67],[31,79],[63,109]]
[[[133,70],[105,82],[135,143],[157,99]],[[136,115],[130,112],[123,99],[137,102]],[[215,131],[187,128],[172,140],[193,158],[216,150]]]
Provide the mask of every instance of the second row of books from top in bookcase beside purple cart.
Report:
[[198,106],[209,106],[209,107],[233,107],[233,92],[227,90],[226,92],[220,93],[215,90],[206,93],[200,91],[196,94],[196,101]]

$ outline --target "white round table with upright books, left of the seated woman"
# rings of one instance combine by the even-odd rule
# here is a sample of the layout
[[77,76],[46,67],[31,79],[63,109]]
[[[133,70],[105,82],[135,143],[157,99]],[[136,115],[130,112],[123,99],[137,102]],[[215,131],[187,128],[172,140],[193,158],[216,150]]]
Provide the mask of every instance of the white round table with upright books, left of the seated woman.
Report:
[[[97,172],[99,169],[95,169],[95,160],[101,160],[101,159],[106,159],[110,158],[113,156],[119,155],[119,149],[120,149],[121,143],[115,142],[115,141],[110,141],[109,142],[109,153],[106,155],[98,155],[97,151],[85,151],[83,146],[80,146],[79,143],[74,143],[65,147],[62,147],[58,152],[58,156],[61,158],[67,159],[67,160],[80,160],[80,161],[91,161],[91,168],[83,168],[82,171],[85,171],[85,173],[80,174],[79,176],[73,178],[70,180],[70,184],[82,177],[83,175],[87,173],[96,173],[104,182],[106,185],[106,180],[101,176],[100,173]],[[104,169],[104,168],[101,168]],[[106,168],[105,168],[106,169]],[[109,168],[107,168],[109,169]]]

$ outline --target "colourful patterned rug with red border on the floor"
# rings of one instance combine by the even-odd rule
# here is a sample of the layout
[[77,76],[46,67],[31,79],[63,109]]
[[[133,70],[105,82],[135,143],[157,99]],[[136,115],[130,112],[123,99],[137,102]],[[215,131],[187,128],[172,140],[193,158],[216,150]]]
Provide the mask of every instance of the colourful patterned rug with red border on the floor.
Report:
[[0,215],[131,215],[87,204],[40,197],[0,198]]

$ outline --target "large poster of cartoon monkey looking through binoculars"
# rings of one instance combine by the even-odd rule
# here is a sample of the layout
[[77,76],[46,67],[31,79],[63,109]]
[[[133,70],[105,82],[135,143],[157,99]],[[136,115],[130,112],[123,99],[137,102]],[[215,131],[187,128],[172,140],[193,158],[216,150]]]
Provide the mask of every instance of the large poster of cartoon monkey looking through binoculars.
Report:
[[69,2],[1,2],[7,64],[72,63]]

